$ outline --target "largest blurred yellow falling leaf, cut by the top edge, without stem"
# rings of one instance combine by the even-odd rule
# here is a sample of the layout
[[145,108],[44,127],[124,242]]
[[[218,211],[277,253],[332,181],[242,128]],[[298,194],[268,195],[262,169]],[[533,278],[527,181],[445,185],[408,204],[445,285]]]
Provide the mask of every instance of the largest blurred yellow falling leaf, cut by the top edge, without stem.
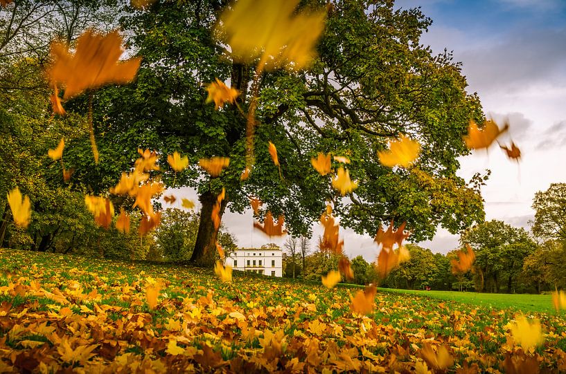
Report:
[[297,14],[298,3],[270,0],[258,6],[254,0],[236,1],[231,10],[222,13],[219,24],[228,36],[233,58],[250,61],[260,56],[260,69],[286,66],[299,70],[310,64],[326,14]]

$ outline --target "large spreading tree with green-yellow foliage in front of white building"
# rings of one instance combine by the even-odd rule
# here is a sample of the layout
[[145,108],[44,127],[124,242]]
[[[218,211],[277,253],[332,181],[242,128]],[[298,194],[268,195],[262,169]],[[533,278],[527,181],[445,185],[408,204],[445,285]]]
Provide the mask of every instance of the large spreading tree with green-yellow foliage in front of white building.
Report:
[[[310,0],[301,7],[325,4]],[[431,20],[419,9],[395,10],[393,1],[332,1],[312,66],[263,72],[256,164],[241,181],[246,118],[240,109],[247,112],[253,99],[254,64],[234,61],[215,38],[213,30],[226,7],[225,1],[197,0],[125,9],[121,24],[130,53],[143,56],[143,62],[134,84],[94,93],[100,165],[76,162],[81,178],[91,180],[95,190],[115,183],[119,171],[132,164],[137,147],[188,154],[193,166],[176,180],[200,196],[192,259],[204,265],[213,260],[211,212],[222,187],[226,198],[220,214],[227,207],[243,212],[248,197],[258,196],[274,216],[284,214],[285,225],[297,236],[310,232],[325,200],[333,201],[341,225],[356,232],[374,234],[382,222],[395,219],[407,221],[416,241],[432,238],[438,225],[459,232],[483,220],[481,178],[466,183],[456,176],[457,158],[468,153],[462,141],[468,121],[482,119],[479,100],[466,93],[460,64],[450,53],[433,55],[421,45]],[[240,91],[239,108],[215,110],[205,102],[204,84],[217,77]],[[85,111],[85,98],[68,107]],[[400,134],[422,144],[409,170],[378,162],[378,151]],[[267,141],[276,144],[281,176]],[[350,158],[348,169],[360,185],[353,194],[343,198],[328,176],[312,169],[310,158],[319,151]],[[219,178],[196,166],[211,156],[231,158]],[[173,172],[166,170],[163,180],[170,183]]]

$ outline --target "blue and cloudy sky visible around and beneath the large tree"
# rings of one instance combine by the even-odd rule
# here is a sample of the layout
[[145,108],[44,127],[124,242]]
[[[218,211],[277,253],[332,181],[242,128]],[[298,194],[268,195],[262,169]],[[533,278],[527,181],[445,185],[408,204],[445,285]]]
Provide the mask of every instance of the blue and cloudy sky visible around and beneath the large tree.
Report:
[[[488,118],[511,126],[500,140],[520,147],[520,163],[493,146],[460,158],[459,176],[469,180],[491,170],[482,188],[486,220],[497,219],[529,230],[537,191],[566,183],[566,0],[402,0],[396,8],[415,8],[432,18],[421,38],[434,53],[452,50],[462,62],[468,92],[477,92]],[[197,201],[194,191],[182,192]],[[227,211],[222,222],[240,247],[259,247],[269,239],[252,228],[253,216]],[[375,261],[378,247],[370,236],[341,228],[344,252]],[[311,247],[322,230],[315,225]],[[446,253],[459,236],[439,229],[419,245]]]

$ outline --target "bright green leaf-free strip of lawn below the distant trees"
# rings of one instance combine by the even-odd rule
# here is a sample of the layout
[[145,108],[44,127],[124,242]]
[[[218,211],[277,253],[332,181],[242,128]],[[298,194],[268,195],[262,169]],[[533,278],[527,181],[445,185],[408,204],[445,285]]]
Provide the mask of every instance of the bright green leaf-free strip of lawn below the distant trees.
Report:
[[516,309],[524,312],[554,312],[549,294],[488,294],[482,292],[395,290],[380,288],[384,292],[414,294],[431,299],[453,300],[476,306],[497,309]]

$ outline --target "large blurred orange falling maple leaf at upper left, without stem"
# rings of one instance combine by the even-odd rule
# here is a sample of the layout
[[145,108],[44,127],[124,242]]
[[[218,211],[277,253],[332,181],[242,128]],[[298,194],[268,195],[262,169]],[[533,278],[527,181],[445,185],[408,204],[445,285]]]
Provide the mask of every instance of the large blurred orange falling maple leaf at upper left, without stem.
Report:
[[64,99],[74,97],[87,88],[131,82],[141,58],[134,57],[118,63],[123,53],[121,45],[122,38],[117,31],[105,36],[91,30],[85,31],[77,39],[74,55],[69,53],[67,44],[54,42],[51,44],[51,53],[55,62],[48,68],[48,76],[54,85],[64,84]]

